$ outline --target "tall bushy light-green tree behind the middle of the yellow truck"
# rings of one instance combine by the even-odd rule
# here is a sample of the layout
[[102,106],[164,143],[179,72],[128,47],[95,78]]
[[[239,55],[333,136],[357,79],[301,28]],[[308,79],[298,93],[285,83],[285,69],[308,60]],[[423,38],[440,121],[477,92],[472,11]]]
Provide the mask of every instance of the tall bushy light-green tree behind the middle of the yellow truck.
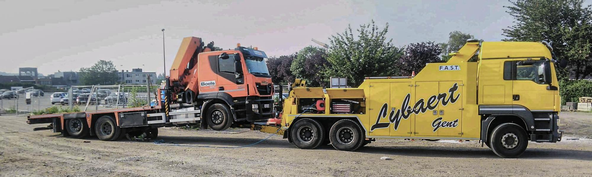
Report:
[[330,45],[327,61],[332,68],[326,70],[327,76],[347,77],[349,86],[359,86],[364,77],[396,76],[397,59],[403,55],[402,51],[387,40],[388,23],[384,28],[370,24],[360,25],[356,37],[352,27],[341,34],[329,38]]

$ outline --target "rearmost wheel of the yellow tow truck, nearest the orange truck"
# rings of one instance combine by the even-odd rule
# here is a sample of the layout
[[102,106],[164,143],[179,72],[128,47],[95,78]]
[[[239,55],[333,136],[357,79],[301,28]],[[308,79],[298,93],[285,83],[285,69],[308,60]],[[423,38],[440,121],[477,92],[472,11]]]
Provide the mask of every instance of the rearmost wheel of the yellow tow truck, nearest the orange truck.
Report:
[[313,119],[300,119],[292,124],[290,134],[294,145],[300,149],[315,149],[324,144],[325,130]]

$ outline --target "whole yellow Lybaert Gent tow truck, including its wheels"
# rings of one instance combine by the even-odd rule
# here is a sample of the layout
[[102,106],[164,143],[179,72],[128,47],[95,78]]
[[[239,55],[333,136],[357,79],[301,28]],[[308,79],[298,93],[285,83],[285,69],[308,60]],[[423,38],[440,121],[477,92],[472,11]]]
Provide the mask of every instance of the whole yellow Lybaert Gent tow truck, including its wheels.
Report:
[[297,80],[283,104],[284,138],[348,151],[377,138],[480,140],[503,158],[520,156],[529,141],[561,140],[551,45],[468,40],[451,55],[417,76],[366,77],[358,88]]

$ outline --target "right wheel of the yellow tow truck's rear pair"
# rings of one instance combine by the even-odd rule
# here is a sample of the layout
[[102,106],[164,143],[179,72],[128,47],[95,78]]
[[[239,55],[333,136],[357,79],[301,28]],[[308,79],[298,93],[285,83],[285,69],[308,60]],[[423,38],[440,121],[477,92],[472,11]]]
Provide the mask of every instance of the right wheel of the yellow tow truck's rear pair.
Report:
[[339,120],[329,131],[331,145],[337,150],[356,150],[363,145],[364,137],[362,127],[349,119]]

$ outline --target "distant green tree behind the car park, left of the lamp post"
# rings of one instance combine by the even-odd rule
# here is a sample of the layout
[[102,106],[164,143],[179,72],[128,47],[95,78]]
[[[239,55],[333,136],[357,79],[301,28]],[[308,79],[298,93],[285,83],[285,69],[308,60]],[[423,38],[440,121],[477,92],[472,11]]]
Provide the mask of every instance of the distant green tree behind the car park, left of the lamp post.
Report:
[[119,80],[112,61],[99,60],[90,68],[80,68],[79,74],[83,85],[113,85]]

